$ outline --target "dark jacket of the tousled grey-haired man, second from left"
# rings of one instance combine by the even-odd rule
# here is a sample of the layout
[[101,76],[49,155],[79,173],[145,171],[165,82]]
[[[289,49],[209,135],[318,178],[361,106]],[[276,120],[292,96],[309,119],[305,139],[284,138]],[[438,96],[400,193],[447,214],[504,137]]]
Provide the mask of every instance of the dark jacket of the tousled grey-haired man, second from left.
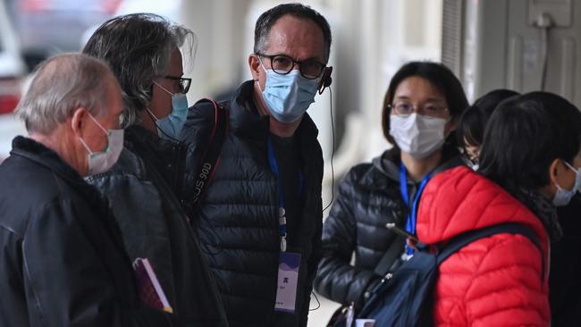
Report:
[[131,260],[147,257],[153,265],[173,313],[186,326],[225,326],[215,281],[176,194],[185,160],[185,146],[131,126],[119,161],[86,180],[109,198]]

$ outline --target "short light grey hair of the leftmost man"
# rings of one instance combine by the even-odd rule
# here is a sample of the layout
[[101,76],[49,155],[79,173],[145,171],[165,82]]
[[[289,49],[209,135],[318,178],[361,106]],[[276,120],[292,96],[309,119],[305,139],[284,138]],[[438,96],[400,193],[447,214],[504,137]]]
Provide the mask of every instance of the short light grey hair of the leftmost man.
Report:
[[111,80],[113,74],[101,60],[80,54],[57,55],[38,65],[15,112],[29,133],[49,135],[79,107],[94,116],[105,113]]

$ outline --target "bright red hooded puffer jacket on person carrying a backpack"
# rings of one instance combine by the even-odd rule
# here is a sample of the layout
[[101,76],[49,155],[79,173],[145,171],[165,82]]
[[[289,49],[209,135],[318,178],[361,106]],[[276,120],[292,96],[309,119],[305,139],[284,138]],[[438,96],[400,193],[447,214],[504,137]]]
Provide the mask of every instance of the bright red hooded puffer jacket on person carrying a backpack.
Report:
[[530,239],[509,233],[461,248],[439,267],[436,326],[550,324],[547,233],[535,214],[493,181],[466,167],[439,173],[422,194],[417,236],[434,244],[502,222],[522,223],[535,231],[543,255]]

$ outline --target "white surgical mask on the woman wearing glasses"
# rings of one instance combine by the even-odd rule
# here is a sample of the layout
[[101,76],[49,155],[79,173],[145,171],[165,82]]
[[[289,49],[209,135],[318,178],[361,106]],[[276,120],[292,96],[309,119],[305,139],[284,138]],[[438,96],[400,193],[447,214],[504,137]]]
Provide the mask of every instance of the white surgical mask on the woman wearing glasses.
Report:
[[432,155],[444,144],[444,128],[447,120],[411,113],[390,116],[390,135],[401,151],[421,159]]

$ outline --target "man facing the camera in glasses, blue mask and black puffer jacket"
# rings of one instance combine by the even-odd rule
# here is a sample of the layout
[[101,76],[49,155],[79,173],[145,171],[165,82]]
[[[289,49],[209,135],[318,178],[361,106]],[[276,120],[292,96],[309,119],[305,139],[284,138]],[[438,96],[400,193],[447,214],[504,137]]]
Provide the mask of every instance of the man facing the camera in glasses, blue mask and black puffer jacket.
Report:
[[[306,112],[330,82],[330,46],[321,14],[302,4],[275,6],[257,20],[253,80],[225,104],[229,130],[190,217],[211,249],[206,257],[231,327],[307,325],[321,257],[323,155]],[[189,168],[214,127],[214,105],[190,108],[181,133],[194,149]],[[187,175],[186,202],[198,172]]]

